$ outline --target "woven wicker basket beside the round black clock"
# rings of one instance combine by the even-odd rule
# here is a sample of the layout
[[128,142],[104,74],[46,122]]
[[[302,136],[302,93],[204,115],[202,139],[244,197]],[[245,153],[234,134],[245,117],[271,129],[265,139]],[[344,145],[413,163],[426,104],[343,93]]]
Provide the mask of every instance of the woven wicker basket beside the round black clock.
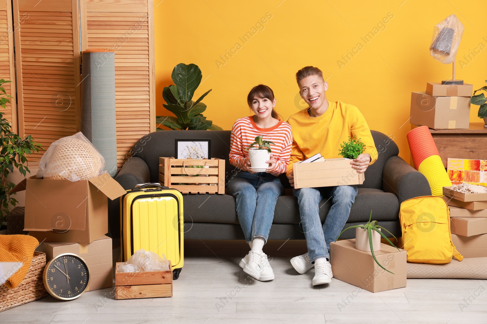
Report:
[[0,312],[47,296],[42,273],[46,266],[46,254],[34,251],[32,263],[25,279],[14,289],[0,287]]

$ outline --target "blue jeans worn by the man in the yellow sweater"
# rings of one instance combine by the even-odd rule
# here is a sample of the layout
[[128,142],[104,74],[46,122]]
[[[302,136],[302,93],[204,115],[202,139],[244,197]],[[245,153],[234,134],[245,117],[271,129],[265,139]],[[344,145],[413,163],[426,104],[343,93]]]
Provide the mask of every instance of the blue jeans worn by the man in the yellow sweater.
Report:
[[[330,242],[338,238],[343,226],[345,226],[357,192],[357,186],[293,190],[293,194],[298,197],[301,224],[311,261],[320,257],[326,257],[330,260]],[[325,223],[321,226],[318,210],[321,199],[325,197],[332,199],[332,206],[326,216]]]

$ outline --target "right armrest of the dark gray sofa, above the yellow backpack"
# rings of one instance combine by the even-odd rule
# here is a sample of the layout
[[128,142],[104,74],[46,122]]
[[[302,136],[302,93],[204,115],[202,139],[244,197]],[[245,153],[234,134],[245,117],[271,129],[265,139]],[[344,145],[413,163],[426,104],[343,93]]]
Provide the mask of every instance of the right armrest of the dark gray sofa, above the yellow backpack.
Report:
[[384,165],[382,187],[385,192],[397,196],[399,205],[414,197],[431,196],[426,177],[397,155],[390,157]]

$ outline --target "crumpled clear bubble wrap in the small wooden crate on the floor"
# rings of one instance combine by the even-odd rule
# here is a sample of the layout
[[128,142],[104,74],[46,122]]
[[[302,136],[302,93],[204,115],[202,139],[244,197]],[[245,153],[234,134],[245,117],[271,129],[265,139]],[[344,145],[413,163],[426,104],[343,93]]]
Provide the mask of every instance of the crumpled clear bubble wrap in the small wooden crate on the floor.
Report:
[[163,254],[158,256],[152,251],[140,249],[129,257],[127,262],[118,264],[118,272],[169,271],[169,261]]

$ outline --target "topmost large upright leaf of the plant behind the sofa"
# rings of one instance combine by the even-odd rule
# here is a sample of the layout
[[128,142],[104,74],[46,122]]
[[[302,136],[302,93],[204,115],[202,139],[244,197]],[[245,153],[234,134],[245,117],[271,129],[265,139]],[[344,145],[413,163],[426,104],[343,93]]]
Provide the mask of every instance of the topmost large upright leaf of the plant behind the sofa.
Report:
[[178,88],[180,99],[188,102],[193,98],[194,91],[200,85],[202,74],[196,64],[179,63],[172,70],[171,78]]

